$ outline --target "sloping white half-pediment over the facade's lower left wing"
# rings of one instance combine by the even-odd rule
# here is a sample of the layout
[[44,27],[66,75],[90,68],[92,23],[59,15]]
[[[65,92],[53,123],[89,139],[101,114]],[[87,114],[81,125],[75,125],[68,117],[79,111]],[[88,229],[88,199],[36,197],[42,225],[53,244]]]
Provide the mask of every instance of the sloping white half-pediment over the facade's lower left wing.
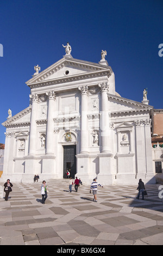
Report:
[[29,107],[25,108],[23,111],[7,119],[4,123],[2,123],[2,125],[5,127],[8,127],[11,125],[29,124],[31,109],[32,109],[32,106],[30,105]]

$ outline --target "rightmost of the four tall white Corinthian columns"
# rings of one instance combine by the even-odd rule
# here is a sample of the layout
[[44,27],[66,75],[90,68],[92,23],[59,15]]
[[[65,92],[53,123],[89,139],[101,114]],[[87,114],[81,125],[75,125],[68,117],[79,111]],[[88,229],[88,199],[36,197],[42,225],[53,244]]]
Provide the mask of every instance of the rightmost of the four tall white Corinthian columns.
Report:
[[101,141],[102,153],[109,153],[109,113],[108,113],[108,82],[99,84],[101,88]]

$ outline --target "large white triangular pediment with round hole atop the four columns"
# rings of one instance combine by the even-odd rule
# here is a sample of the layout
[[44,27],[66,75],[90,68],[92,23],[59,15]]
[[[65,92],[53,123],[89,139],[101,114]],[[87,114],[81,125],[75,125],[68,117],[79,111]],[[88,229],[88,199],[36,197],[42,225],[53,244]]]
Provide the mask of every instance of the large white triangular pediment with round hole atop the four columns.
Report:
[[78,76],[93,74],[96,72],[108,71],[112,73],[110,66],[97,63],[87,62],[74,58],[64,58],[49,66],[47,69],[40,72],[38,75],[33,75],[33,78],[28,80],[26,84],[31,87],[33,84],[41,84],[55,81],[55,83],[77,80]]

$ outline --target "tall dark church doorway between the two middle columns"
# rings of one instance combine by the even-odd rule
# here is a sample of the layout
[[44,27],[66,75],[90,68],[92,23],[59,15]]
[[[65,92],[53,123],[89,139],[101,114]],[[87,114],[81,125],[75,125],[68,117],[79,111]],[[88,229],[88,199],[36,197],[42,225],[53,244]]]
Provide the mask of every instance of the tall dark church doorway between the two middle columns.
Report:
[[67,178],[66,170],[69,170],[70,176],[74,179],[76,175],[76,145],[64,146],[64,178]]

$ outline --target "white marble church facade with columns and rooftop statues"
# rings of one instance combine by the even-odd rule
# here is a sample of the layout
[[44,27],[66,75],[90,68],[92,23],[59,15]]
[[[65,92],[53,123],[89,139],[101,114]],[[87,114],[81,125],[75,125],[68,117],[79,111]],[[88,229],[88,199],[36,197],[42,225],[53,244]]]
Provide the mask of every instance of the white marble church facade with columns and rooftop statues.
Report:
[[[70,45],[67,44],[70,47]],[[151,147],[152,106],[115,91],[106,52],[101,61],[74,59],[71,49],[26,82],[29,107],[6,127],[2,179],[62,179],[66,169],[90,184],[155,182]]]

